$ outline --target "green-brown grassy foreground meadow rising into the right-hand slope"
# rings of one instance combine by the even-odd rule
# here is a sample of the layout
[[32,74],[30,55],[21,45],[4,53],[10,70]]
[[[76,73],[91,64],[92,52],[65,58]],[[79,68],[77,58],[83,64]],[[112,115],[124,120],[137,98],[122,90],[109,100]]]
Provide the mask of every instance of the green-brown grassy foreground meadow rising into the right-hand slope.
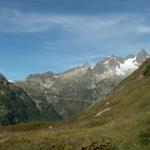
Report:
[[[95,117],[106,108],[111,110]],[[7,126],[0,133],[2,150],[81,149],[104,137],[111,138],[111,145],[115,145],[109,149],[149,150],[150,59],[121,82],[105,101],[72,120]]]

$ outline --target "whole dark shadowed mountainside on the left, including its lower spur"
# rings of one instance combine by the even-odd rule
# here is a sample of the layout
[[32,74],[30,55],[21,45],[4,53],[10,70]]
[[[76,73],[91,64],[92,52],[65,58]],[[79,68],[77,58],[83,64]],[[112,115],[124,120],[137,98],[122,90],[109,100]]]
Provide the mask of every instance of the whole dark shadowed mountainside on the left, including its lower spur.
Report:
[[38,105],[22,88],[0,74],[0,125],[61,119],[50,104],[42,101]]

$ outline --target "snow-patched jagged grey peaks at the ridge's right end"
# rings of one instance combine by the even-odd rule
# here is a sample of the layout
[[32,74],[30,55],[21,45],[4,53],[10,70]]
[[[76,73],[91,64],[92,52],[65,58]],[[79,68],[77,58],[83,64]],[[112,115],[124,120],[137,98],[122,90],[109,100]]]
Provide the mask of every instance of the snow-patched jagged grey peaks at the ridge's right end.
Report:
[[101,78],[109,76],[126,77],[135,71],[146,59],[149,54],[142,49],[137,55],[129,55],[127,57],[110,56],[98,62],[93,71],[100,75]]

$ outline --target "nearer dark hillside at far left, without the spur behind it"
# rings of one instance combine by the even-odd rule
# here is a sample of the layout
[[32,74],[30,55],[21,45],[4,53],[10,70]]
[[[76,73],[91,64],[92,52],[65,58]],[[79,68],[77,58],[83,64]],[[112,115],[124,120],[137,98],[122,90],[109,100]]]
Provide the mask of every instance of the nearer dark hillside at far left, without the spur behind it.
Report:
[[38,119],[35,103],[21,89],[0,74],[0,124],[15,124]]

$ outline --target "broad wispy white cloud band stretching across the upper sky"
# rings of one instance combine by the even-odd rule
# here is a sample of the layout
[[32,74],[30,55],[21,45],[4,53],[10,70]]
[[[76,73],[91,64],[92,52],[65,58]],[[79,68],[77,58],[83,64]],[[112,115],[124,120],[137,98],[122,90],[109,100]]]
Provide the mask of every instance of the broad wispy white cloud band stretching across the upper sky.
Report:
[[[139,17],[139,15],[141,17]],[[96,16],[27,13],[0,9],[0,32],[50,32],[57,30],[69,33],[70,44],[77,42],[98,43],[114,37],[128,37],[130,34],[150,33],[145,24],[149,14],[103,14]],[[142,18],[142,19],[141,19]],[[67,39],[69,40],[69,39]],[[63,42],[64,43],[64,42]],[[61,43],[59,43],[61,45]],[[47,48],[53,45],[43,45]]]

